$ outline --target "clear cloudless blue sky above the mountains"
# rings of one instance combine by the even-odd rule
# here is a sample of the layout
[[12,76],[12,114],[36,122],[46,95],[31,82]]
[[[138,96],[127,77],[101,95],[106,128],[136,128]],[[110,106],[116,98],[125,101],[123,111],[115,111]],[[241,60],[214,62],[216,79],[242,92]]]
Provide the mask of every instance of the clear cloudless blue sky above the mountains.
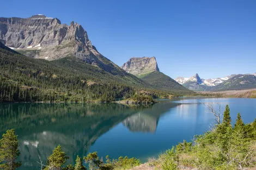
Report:
[[35,14],[80,23],[119,66],[155,56],[172,78],[256,72],[255,0],[1,1],[0,17]]

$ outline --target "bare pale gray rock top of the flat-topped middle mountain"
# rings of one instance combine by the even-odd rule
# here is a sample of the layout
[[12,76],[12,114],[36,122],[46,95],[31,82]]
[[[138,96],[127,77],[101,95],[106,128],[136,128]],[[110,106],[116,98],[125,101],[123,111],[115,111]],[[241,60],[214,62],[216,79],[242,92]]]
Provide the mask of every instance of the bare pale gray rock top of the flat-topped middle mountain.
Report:
[[142,57],[142,58],[131,58],[125,62],[122,68],[133,75],[149,74],[154,71],[159,71],[157,66],[156,58],[153,57]]

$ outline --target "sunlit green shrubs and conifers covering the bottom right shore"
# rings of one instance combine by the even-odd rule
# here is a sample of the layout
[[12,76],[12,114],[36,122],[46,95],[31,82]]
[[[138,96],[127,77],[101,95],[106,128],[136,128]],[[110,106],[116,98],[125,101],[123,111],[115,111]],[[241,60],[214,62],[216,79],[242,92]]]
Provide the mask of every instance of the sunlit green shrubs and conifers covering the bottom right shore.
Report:
[[[244,169],[255,163],[255,140],[253,129],[256,120],[244,124],[237,115],[235,127],[231,127],[230,110],[226,106],[223,122],[203,135],[196,136],[192,143],[183,141],[175,149],[160,155],[156,161],[162,169],[177,169],[190,166],[202,170]],[[166,159],[167,158],[167,159]],[[157,165],[157,164],[156,164]]]

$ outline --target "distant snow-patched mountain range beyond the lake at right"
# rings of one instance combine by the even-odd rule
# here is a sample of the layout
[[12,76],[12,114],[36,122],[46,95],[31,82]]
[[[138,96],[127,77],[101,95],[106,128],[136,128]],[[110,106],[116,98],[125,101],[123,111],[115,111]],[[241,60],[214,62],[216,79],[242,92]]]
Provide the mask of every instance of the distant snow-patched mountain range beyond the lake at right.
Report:
[[242,90],[256,87],[256,73],[231,74],[223,78],[202,79],[198,74],[191,78],[178,77],[178,83],[193,91]]

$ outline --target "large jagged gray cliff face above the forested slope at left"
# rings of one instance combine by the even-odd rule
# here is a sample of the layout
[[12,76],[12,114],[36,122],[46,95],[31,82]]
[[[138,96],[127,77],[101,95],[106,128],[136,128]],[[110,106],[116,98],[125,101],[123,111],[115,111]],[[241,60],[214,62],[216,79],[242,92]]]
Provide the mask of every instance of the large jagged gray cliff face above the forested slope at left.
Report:
[[80,24],[71,22],[68,26],[57,18],[44,15],[0,17],[0,41],[36,59],[56,60],[75,56],[106,71],[118,67],[97,52]]

